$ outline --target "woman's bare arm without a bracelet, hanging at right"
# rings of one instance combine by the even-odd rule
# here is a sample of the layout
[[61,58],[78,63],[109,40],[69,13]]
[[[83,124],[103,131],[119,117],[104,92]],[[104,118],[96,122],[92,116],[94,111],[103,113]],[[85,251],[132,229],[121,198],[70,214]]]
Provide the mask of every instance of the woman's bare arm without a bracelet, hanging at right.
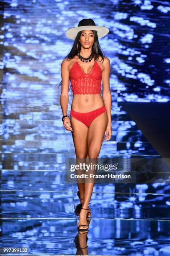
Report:
[[107,112],[107,129],[105,140],[109,140],[112,136],[112,127],[111,127],[111,104],[112,96],[110,93],[110,60],[107,57],[104,57],[103,61],[104,69],[102,71],[102,98],[105,104]]

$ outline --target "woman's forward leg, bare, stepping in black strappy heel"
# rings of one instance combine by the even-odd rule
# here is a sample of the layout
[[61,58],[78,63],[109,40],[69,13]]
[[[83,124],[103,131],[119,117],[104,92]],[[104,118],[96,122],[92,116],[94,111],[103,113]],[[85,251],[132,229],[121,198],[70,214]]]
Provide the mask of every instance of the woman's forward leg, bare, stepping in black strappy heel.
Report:
[[[87,133],[87,160],[97,159],[100,154],[100,149],[102,146],[102,141],[105,136],[105,130],[107,127],[107,113],[106,111],[102,113],[101,115],[97,116],[92,123],[90,124],[90,127],[88,128]],[[93,160],[92,162],[94,162]],[[94,182],[90,180],[90,182],[87,180],[84,184],[84,198],[82,203],[82,208],[88,208],[92,190],[94,187]],[[79,218],[79,224],[87,225],[86,220],[87,210],[81,210],[80,211],[80,218]],[[80,228],[84,229],[87,227],[81,226]]]

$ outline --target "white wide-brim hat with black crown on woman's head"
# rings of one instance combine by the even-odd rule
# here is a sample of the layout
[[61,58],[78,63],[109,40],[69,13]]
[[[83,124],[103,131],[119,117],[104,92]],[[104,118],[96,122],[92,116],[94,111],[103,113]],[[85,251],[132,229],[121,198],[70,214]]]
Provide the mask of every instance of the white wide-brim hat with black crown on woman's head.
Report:
[[104,26],[96,26],[94,20],[92,19],[83,19],[80,20],[77,27],[69,28],[65,32],[65,35],[75,40],[77,33],[82,30],[95,30],[97,31],[98,38],[106,36],[109,33],[109,29]]

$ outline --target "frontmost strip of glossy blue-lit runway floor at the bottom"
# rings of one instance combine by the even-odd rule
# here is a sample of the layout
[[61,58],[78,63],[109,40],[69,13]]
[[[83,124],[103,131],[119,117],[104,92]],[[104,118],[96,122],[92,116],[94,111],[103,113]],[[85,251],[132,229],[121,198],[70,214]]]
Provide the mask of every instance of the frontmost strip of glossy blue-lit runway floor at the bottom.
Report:
[[[67,212],[68,213],[68,212]],[[94,214],[94,212],[92,213]],[[30,254],[75,255],[74,218],[4,220],[5,246],[29,247]],[[169,221],[92,218],[87,233],[89,255],[168,255]],[[167,246],[166,246],[167,245]],[[140,253],[140,254],[135,254]],[[166,254],[167,253],[167,254]],[[43,255],[45,255],[43,254]]]

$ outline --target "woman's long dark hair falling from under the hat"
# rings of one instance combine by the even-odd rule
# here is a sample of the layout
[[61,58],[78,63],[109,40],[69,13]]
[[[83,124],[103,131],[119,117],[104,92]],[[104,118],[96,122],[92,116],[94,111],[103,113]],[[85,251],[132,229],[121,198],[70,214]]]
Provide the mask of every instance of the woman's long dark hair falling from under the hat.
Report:
[[[100,44],[99,44],[99,39],[97,36],[97,31],[92,30],[94,33],[94,43],[92,45],[92,55],[94,56],[95,61],[98,60],[99,56],[102,57],[101,61],[103,63],[104,61],[104,55],[102,53],[102,49],[100,48]],[[80,52],[81,50],[81,44],[79,42],[80,40],[80,36],[81,36],[82,31],[79,31],[77,33],[77,36],[75,38],[74,44],[72,46],[71,51],[69,52],[69,54],[67,54],[67,56],[65,57],[65,59],[73,59],[75,55],[77,55],[78,52]],[[78,46],[77,46],[78,44]],[[78,48],[78,49],[77,49]],[[69,84],[70,84],[70,79],[69,79]],[[58,88],[62,85],[62,80],[58,86]],[[69,91],[70,91],[71,86],[69,87]]]

